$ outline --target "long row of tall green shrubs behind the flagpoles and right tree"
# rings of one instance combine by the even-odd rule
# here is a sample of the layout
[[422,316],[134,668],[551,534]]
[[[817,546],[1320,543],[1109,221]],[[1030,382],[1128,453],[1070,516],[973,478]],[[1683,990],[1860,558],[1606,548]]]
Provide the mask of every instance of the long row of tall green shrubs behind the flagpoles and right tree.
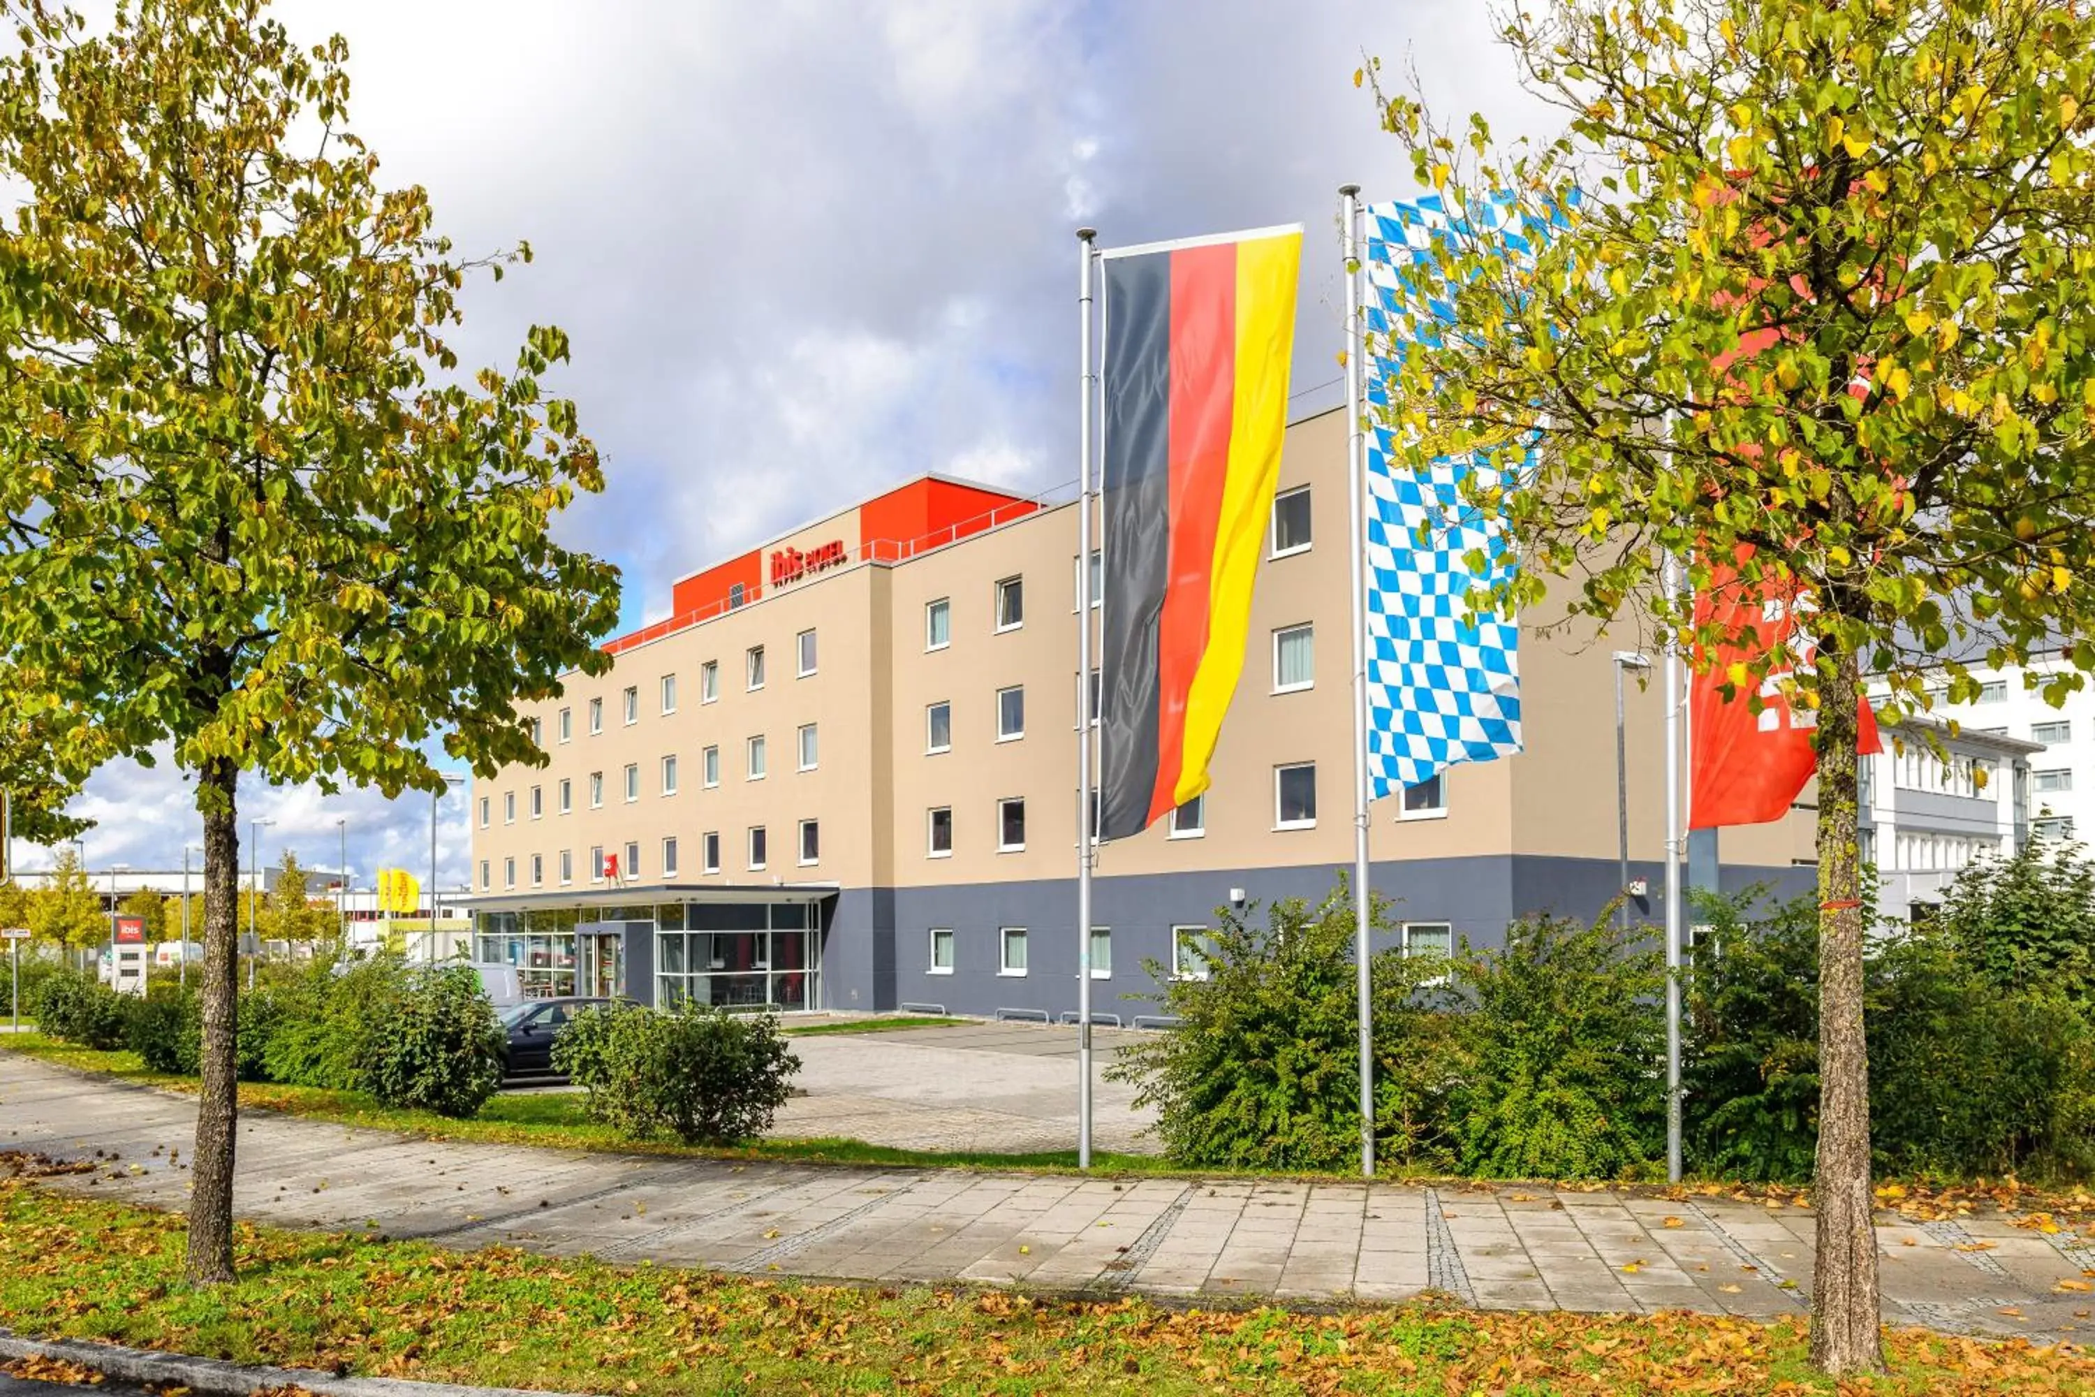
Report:
[[[1219,909],[1177,1033],[1108,1068],[1173,1160],[1343,1169],[1360,1152],[1353,909]],[[1374,922],[1389,932],[1387,907]],[[1684,984],[1684,1150],[1703,1175],[1808,1179],[1818,1112],[1818,915],[1760,896],[1697,911]],[[1379,1156],[1481,1177],[1663,1169],[1663,957],[1645,928],[1517,922],[1504,947],[1372,963]],[[1877,1167],[2095,1173],[2095,875],[2072,852],[1967,871],[1927,926],[1869,953]]]

